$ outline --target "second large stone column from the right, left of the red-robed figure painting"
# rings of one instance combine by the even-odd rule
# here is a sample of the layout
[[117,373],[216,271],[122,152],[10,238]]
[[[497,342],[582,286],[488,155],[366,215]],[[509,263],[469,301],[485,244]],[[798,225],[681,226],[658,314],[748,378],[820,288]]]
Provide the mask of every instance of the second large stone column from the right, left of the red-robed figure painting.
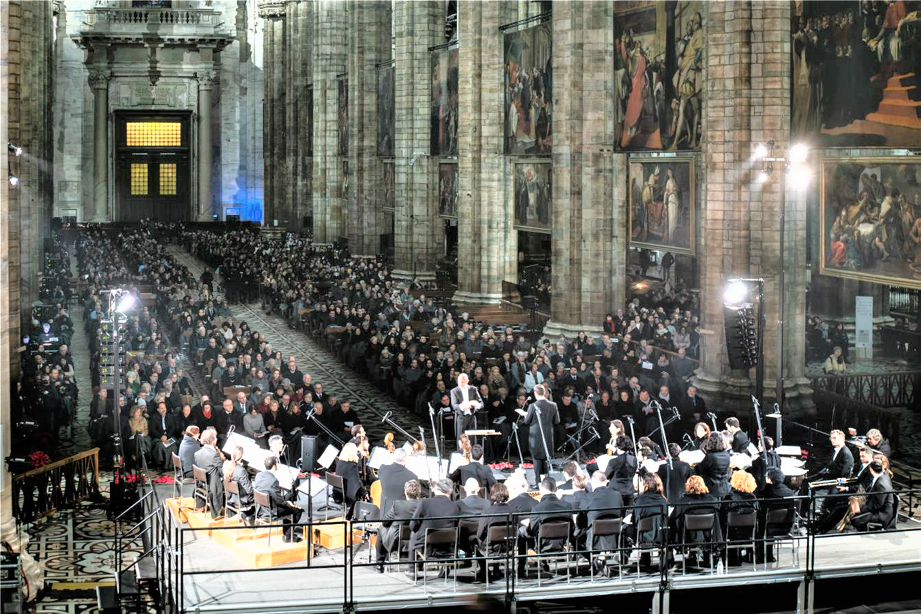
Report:
[[544,334],[572,338],[600,333],[604,315],[623,306],[627,203],[623,190],[615,200],[614,186],[626,183],[626,156],[615,173],[612,4],[562,3],[553,18],[554,94],[562,95],[554,95],[554,292]]

